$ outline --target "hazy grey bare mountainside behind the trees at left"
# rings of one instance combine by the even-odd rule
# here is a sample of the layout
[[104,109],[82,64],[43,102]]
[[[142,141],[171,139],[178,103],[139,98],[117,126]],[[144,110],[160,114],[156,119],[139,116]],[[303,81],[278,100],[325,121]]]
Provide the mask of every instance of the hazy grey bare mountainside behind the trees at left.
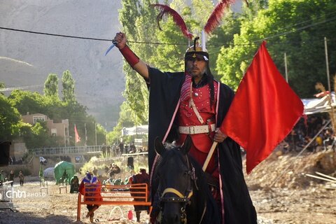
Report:
[[[121,27],[118,8],[121,1],[3,1],[0,27],[111,40]],[[105,56],[110,41],[0,29],[0,45],[0,81],[6,87],[43,85],[49,73],[60,79],[69,69],[78,102],[93,115],[116,111],[116,118],[101,118],[104,123],[118,118],[125,89],[123,58],[115,49]]]

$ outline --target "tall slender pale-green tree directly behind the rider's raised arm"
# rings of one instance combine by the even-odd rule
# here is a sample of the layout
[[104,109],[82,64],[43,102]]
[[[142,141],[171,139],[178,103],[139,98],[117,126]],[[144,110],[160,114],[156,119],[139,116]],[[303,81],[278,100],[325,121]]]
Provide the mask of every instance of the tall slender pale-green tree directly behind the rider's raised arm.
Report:
[[[154,2],[154,1],[153,1]],[[157,2],[157,1],[155,1]],[[141,59],[148,59],[152,55],[154,46],[136,44],[139,40],[155,41],[155,35],[148,30],[155,27],[155,12],[149,5],[152,1],[123,0],[123,8],[119,11],[119,19],[123,25],[123,31],[127,35],[130,48],[137,52]],[[126,88],[123,95],[130,109],[134,111],[134,123],[146,123],[148,121],[148,90],[143,78],[139,76],[130,65],[124,63],[126,75]]]

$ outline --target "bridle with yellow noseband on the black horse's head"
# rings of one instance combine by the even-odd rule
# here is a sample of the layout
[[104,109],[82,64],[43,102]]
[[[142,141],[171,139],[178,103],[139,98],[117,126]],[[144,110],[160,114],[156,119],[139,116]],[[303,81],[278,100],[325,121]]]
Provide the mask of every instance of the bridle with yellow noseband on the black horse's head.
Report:
[[[188,159],[188,155],[186,155],[187,158],[187,165],[188,165],[188,176],[190,178],[190,181],[188,181],[188,187],[186,190],[186,193],[183,195],[179,190],[176,190],[175,188],[165,188],[165,190],[163,190],[161,196],[160,196],[160,204],[163,202],[184,202],[183,206],[181,207],[181,223],[187,223],[187,214],[186,214],[186,207],[187,204],[190,204],[190,198],[193,196],[193,182],[195,183],[195,186],[198,190],[197,187],[197,177],[195,174],[195,167],[193,167],[193,165],[190,164],[189,159]],[[190,169],[191,167],[191,169]],[[176,195],[177,197],[165,197],[165,195],[167,193],[173,193],[174,195]],[[160,209],[162,211],[162,209]]]

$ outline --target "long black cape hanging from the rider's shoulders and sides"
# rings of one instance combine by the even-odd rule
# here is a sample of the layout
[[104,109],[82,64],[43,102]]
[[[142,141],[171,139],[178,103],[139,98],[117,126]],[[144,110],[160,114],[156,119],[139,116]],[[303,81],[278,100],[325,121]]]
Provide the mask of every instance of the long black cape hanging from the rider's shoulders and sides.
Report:
[[[150,84],[148,124],[148,165],[150,174],[155,162],[154,141],[172,142],[178,138],[177,125],[172,122],[179,104],[181,87],[185,78],[183,72],[162,72],[148,67]],[[230,107],[234,92],[221,83],[217,115],[217,127],[221,126]],[[169,129],[170,127],[170,129]],[[166,135],[166,133],[169,133]],[[244,180],[240,146],[230,138],[218,144],[221,187],[224,194],[225,224],[257,223],[257,215]],[[152,195],[156,186],[152,184]]]

